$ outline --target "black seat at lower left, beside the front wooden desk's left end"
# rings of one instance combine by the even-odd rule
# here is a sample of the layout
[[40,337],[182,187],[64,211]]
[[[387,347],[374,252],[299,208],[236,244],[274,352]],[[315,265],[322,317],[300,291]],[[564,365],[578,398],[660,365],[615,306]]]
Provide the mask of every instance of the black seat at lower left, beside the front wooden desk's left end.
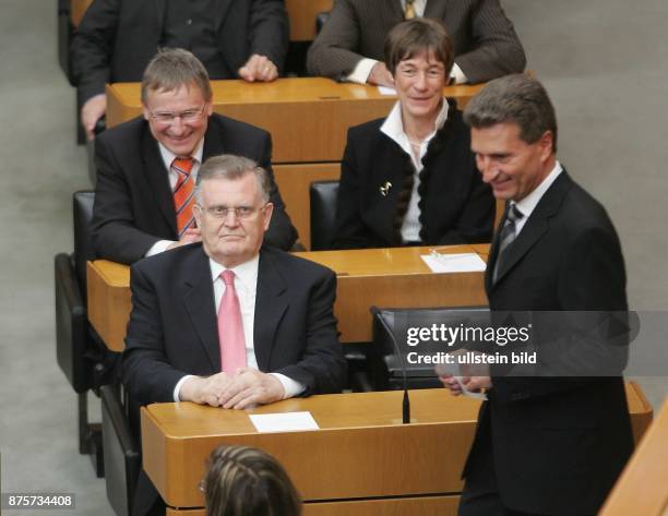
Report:
[[138,440],[130,428],[128,404],[121,404],[119,391],[120,387],[114,385],[99,388],[105,482],[114,512],[118,516],[129,516],[142,459]]

